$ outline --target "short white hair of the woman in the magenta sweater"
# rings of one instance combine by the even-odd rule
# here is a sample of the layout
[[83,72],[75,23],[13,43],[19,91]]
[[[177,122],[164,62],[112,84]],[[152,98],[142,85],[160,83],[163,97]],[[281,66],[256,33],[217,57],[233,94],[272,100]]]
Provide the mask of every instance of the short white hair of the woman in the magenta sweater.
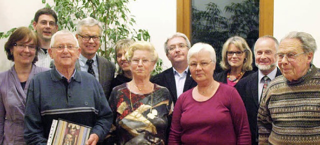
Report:
[[188,63],[189,63],[190,57],[193,54],[198,53],[201,50],[208,51],[210,53],[210,58],[211,58],[212,62],[213,63],[216,62],[214,48],[211,45],[207,44],[207,43],[198,42],[198,43],[193,44],[193,46],[188,51],[188,54],[187,54]]

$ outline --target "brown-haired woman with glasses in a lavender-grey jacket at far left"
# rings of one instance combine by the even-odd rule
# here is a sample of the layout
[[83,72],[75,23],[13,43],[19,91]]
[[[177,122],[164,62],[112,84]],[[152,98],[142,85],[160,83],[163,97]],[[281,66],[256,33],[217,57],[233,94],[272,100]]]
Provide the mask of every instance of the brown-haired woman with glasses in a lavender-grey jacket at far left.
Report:
[[7,59],[14,65],[0,73],[0,144],[25,144],[23,115],[31,78],[48,68],[35,66],[38,41],[33,30],[18,27],[4,44]]

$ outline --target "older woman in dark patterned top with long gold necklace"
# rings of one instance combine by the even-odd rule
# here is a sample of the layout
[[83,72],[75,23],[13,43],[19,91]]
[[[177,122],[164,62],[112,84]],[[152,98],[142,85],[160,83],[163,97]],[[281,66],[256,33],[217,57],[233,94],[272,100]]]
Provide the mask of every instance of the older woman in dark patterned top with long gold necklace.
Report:
[[132,80],[115,86],[108,101],[116,143],[165,144],[173,103],[167,88],[149,81],[158,54],[151,43],[137,41],[125,57],[130,61]]

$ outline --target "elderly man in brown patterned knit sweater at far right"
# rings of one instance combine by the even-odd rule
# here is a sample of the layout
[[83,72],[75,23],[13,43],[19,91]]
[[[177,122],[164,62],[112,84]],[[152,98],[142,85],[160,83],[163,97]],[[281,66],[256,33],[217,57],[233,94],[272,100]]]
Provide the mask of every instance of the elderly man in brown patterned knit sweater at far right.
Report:
[[312,64],[316,44],[305,32],[281,39],[274,78],[258,110],[259,144],[320,144],[320,69]]

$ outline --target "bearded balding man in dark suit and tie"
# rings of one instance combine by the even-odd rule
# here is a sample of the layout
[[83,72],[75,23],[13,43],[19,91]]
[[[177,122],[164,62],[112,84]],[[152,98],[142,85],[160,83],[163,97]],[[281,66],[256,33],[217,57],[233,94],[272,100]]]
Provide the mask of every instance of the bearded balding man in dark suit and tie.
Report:
[[256,118],[263,91],[263,77],[269,78],[266,80],[268,83],[274,77],[281,75],[280,70],[276,67],[277,57],[274,56],[278,45],[279,42],[273,36],[265,35],[258,38],[254,44],[255,65],[258,67],[258,71],[240,79],[234,86],[245,105],[252,144],[258,144]]

